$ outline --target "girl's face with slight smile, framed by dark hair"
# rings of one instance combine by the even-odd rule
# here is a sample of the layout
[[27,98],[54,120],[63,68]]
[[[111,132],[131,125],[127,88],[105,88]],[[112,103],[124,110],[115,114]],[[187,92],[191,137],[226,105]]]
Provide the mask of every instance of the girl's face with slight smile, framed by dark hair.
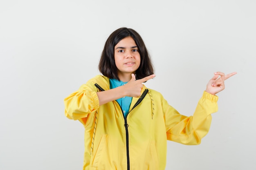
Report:
[[127,80],[127,77],[130,78],[131,74],[139,68],[139,49],[131,37],[126,37],[117,43],[114,51],[115,64],[118,69],[117,75],[119,79]]

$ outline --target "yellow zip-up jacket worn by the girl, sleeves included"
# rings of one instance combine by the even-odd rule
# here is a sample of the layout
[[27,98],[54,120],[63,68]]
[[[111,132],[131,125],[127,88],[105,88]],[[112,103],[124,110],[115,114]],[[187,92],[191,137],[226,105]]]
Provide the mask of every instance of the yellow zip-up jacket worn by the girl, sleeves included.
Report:
[[109,78],[97,75],[64,99],[65,116],[85,128],[83,170],[164,170],[167,140],[200,144],[218,110],[218,97],[204,91],[187,117],[144,86],[124,117],[116,101],[99,106],[97,92],[109,89]]

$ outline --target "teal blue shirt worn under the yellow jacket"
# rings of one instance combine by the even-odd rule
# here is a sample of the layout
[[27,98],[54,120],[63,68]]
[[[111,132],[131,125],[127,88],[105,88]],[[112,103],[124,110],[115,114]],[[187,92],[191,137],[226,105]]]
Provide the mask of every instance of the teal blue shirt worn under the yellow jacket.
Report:
[[[116,88],[119,86],[123,86],[127,82],[118,81],[117,79],[109,79],[109,83],[110,83],[110,89],[112,89],[112,88]],[[124,113],[124,117],[126,117],[129,112],[129,109],[130,109],[132,97],[125,96],[120,99],[117,99],[116,101],[121,106],[123,113]]]

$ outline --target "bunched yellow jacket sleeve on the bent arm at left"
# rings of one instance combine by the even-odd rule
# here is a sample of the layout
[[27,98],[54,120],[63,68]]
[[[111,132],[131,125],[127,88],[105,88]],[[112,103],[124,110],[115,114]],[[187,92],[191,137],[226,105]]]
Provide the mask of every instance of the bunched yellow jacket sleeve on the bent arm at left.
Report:
[[88,114],[99,108],[97,88],[93,83],[83,84],[78,91],[64,99],[65,116],[85,124]]

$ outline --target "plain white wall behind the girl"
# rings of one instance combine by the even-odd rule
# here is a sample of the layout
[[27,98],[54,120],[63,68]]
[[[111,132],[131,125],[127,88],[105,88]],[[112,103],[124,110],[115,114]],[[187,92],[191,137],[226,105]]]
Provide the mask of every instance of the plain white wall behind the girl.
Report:
[[181,114],[193,114],[214,72],[238,72],[202,144],[168,141],[166,170],[255,169],[255,9],[254,0],[1,0],[0,169],[82,169],[83,126],[65,117],[63,99],[99,74],[122,26],[152,56],[145,85]]

